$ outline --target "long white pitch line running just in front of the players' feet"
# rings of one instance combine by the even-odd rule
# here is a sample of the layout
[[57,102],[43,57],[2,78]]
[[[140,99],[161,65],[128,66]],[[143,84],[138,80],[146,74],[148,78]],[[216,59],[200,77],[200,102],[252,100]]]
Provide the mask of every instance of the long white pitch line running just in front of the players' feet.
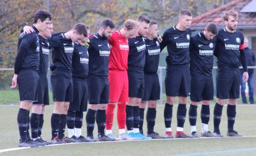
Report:
[[[256,137],[256,135],[251,135],[251,136],[243,136],[243,137],[200,137],[200,138],[195,138],[195,139],[220,139],[220,138],[244,138],[244,137]],[[107,144],[107,143],[114,143],[118,144],[119,142],[131,142],[131,141],[157,141],[157,140],[180,140],[180,139],[193,139],[193,138],[177,138],[177,139],[151,139],[151,140],[117,140],[114,142],[79,142],[79,143],[69,143],[69,144],[52,144],[52,145],[46,145],[45,147],[50,147],[50,146],[61,146],[61,145],[73,145],[73,144]],[[38,147],[35,147],[38,148]],[[9,151],[14,151],[14,150],[22,150],[22,149],[31,149],[31,147],[16,147],[16,148],[10,148],[10,149],[2,149],[0,150],[0,154],[3,152],[9,152]]]

